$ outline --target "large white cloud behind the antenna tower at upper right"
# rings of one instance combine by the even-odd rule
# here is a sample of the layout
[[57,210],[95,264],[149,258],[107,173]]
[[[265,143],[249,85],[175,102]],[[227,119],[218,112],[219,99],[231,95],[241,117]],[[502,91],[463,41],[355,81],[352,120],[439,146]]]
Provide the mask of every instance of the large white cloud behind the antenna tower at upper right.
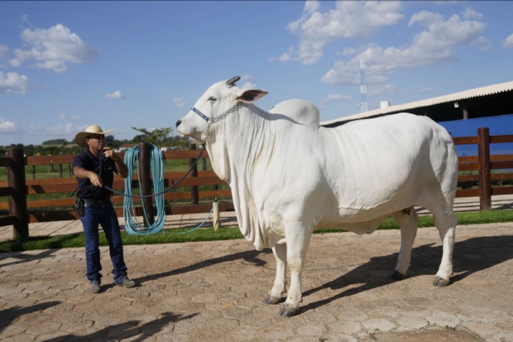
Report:
[[360,82],[360,59],[365,60],[367,84],[388,83],[388,74],[399,69],[414,69],[457,58],[455,46],[469,44],[489,48],[489,40],[482,37],[485,24],[462,20],[453,15],[444,21],[441,15],[418,12],[412,15],[408,25],[415,23],[427,30],[413,37],[409,46],[383,48],[369,44],[358,55],[345,62],[338,60],[322,80],[330,84],[355,85]]

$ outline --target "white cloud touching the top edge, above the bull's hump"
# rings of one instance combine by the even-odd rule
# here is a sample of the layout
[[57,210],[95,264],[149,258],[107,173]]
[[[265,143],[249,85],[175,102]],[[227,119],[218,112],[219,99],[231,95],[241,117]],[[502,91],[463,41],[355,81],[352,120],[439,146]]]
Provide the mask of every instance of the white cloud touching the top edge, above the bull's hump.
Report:
[[313,64],[331,42],[369,37],[397,24],[404,17],[400,8],[400,1],[337,1],[336,8],[321,12],[319,1],[306,1],[302,17],[288,24],[299,35],[299,46],[272,60]]

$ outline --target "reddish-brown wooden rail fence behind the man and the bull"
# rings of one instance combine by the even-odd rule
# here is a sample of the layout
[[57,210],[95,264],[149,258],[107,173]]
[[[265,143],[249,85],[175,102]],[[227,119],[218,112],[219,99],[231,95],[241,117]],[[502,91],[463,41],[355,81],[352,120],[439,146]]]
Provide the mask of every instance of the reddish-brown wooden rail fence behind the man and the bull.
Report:
[[[477,144],[478,155],[472,157],[459,157],[460,184],[477,182],[478,187],[474,189],[459,189],[457,197],[480,197],[480,209],[489,210],[491,207],[491,196],[499,194],[513,194],[513,186],[493,186],[492,182],[513,180],[513,155],[490,155],[490,144],[511,143],[513,135],[489,136],[488,128],[479,128],[475,137],[454,137],[457,145]],[[200,151],[189,149],[185,151],[166,151],[166,160],[189,160],[189,164],[198,157]],[[7,157],[0,157],[0,166],[8,168],[8,180],[0,181],[0,197],[8,196],[8,202],[0,203],[0,210],[8,211],[8,215],[0,216],[0,227],[4,225],[15,226],[15,237],[28,236],[28,223],[43,221],[60,221],[78,219],[73,210],[74,199],[62,194],[71,194],[76,188],[76,178],[52,178],[52,179],[27,179],[25,165],[60,165],[59,171],[62,177],[62,164],[71,164],[74,155],[55,155],[41,157],[24,157],[21,148],[12,148],[8,151]],[[120,153],[123,157],[124,154]],[[208,158],[207,151],[204,152]],[[203,162],[202,164],[206,164]],[[68,166],[69,168],[69,166]],[[211,202],[218,198],[220,211],[234,210],[231,191],[225,186],[218,189],[225,183],[220,180],[214,171],[206,170],[205,167],[196,166],[191,174],[180,183],[180,191],[167,192],[165,200],[174,200],[174,203],[166,206],[166,214],[192,214],[203,213],[211,210]],[[509,169],[509,171],[508,171]],[[492,170],[505,170],[501,173],[492,173]],[[177,179],[183,176],[184,171],[167,172],[164,174],[164,187],[171,186]],[[474,172],[468,172],[474,171]],[[463,173],[463,174],[462,174]],[[471,173],[471,174],[464,174]],[[135,175],[134,177],[137,177]],[[33,175],[31,178],[35,178]],[[138,187],[137,179],[132,180],[132,188]],[[185,188],[184,188],[185,187]],[[201,187],[201,188],[200,188]],[[114,176],[113,188],[119,191],[124,189],[124,180]],[[185,190],[183,190],[185,189]],[[33,194],[58,194],[60,198],[44,200],[27,200],[27,195]],[[176,203],[181,201],[181,203]],[[123,196],[112,196],[112,203],[116,207],[118,216],[123,216]],[[137,207],[137,214],[141,214],[141,200],[134,200]],[[167,202],[169,203],[169,202]],[[187,203],[187,204],[186,204]]]

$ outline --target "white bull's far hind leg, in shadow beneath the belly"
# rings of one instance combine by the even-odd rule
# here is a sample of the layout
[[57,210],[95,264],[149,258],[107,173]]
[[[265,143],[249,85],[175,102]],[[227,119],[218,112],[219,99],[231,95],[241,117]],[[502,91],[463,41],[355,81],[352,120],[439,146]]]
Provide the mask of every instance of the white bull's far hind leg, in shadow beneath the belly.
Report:
[[401,228],[401,249],[399,250],[399,257],[397,257],[397,265],[392,279],[403,280],[406,278],[408,268],[410,268],[413,241],[417,236],[419,216],[417,216],[415,209],[410,207],[394,214],[394,220]]

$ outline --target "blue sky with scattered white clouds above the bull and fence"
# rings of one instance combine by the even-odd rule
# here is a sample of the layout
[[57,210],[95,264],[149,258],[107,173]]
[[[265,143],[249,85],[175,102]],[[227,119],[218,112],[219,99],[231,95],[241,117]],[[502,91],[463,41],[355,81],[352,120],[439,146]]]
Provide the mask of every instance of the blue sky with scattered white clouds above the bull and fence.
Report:
[[[2,1],[0,145],[173,127],[241,76],[321,121],[513,80],[513,1]],[[513,134],[513,116],[447,123]],[[467,132],[468,131],[468,132]]]

